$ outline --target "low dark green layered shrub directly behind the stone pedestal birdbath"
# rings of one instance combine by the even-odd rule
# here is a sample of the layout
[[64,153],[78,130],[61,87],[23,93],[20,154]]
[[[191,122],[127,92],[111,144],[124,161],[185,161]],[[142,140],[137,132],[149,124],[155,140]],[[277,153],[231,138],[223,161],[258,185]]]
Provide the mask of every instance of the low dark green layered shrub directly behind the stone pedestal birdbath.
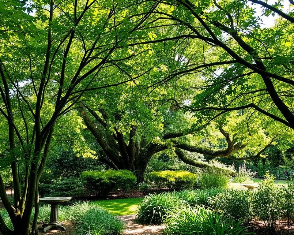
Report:
[[55,180],[49,186],[50,196],[78,197],[83,195],[85,181],[79,178],[63,178]]

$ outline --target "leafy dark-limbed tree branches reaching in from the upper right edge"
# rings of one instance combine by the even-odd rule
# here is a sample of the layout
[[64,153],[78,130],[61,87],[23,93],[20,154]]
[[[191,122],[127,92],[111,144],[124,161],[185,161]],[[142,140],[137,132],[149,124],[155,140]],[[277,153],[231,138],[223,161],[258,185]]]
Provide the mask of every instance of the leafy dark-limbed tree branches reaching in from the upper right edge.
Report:
[[[264,115],[270,122],[274,120],[294,128],[292,12],[283,12],[281,2],[269,5],[258,0],[164,3],[170,6],[169,11],[156,13],[171,24],[178,23],[175,28],[180,34],[173,39],[189,40],[191,47],[183,54],[189,63],[158,83],[201,73],[205,82],[187,88],[198,91],[194,102],[183,105],[198,115],[195,127],[240,110],[249,114],[249,123]],[[254,7],[259,6],[264,17],[255,14]],[[269,14],[279,18],[274,26],[262,28]],[[203,56],[190,59],[196,43],[203,43]]]

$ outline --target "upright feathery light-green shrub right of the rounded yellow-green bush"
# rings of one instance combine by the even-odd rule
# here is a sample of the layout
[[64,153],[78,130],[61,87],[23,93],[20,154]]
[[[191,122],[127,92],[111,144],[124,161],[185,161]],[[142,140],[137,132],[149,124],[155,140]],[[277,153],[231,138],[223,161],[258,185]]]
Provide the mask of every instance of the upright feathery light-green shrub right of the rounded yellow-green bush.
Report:
[[198,183],[201,188],[228,188],[230,178],[228,170],[209,167],[202,171]]

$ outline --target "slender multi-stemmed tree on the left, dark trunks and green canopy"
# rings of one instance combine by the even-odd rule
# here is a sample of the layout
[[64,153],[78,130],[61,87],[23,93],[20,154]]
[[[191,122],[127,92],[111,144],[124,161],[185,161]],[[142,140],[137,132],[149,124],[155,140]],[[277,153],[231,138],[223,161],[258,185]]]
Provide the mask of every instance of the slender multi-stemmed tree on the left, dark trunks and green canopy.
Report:
[[[2,121],[8,124],[3,130],[8,136],[4,159],[11,167],[14,188],[11,203],[0,175],[0,196],[14,228],[8,229],[0,216],[2,234],[29,234],[34,205],[32,233],[38,233],[38,183],[58,120],[85,92],[133,80],[118,75],[105,83],[102,74],[118,62],[148,54],[146,44],[152,40],[145,24],[158,3],[137,4],[98,0],[1,2],[0,21],[5,26],[0,38],[0,111]],[[25,162],[24,190],[17,167],[19,156]]]

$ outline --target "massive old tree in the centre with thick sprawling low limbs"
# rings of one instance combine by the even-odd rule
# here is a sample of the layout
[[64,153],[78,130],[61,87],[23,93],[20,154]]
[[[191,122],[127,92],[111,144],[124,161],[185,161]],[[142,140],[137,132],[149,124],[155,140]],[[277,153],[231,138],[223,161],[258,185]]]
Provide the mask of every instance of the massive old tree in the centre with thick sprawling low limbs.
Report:
[[[242,127],[242,132],[239,125],[243,120],[232,118],[225,127],[222,123],[210,125],[209,135],[213,136],[210,140],[215,140],[206,139],[212,144],[205,145],[202,141],[205,135],[198,132],[198,140],[191,135],[195,133],[194,129],[190,129],[194,118],[175,109],[175,106],[159,105],[162,100],[158,101],[155,91],[144,99],[140,98],[141,90],[128,85],[111,92],[115,94],[111,99],[107,95],[107,99],[100,99],[100,102],[96,98],[92,101],[87,99],[87,104],[86,101],[80,102],[78,111],[87,131],[94,137],[93,141],[102,150],[99,160],[114,169],[131,170],[138,182],[143,182],[151,157],[164,150],[187,164],[206,168],[210,167],[208,162],[191,158],[187,151],[212,158],[248,160],[264,157],[262,153],[273,143],[273,139],[260,130],[252,130],[251,136],[246,136],[247,127]],[[233,137],[224,128],[235,133]]]

